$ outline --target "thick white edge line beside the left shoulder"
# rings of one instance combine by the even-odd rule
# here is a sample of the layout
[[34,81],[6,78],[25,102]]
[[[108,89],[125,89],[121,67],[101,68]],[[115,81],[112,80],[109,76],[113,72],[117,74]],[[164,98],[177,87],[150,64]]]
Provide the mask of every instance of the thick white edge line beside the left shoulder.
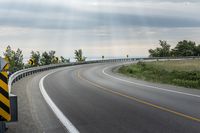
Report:
[[[57,72],[57,71],[56,71]],[[39,88],[40,91],[45,99],[45,101],[47,102],[47,104],[49,105],[49,107],[53,110],[54,114],[56,115],[56,117],[60,120],[60,122],[64,125],[64,127],[69,131],[69,133],[79,133],[79,131],[75,128],[75,126],[67,119],[67,117],[62,113],[62,111],[56,106],[56,104],[51,100],[51,98],[49,97],[49,95],[47,94],[45,88],[44,88],[44,79],[53,74],[55,72],[51,72],[49,74],[47,74],[46,76],[44,76],[39,83]]]

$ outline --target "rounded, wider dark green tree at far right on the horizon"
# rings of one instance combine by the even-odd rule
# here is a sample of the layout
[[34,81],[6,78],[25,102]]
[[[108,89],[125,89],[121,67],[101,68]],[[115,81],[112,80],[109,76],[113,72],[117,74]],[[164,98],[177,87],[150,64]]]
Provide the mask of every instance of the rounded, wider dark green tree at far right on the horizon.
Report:
[[178,42],[176,47],[172,49],[174,56],[195,56],[196,43],[192,41],[183,40]]

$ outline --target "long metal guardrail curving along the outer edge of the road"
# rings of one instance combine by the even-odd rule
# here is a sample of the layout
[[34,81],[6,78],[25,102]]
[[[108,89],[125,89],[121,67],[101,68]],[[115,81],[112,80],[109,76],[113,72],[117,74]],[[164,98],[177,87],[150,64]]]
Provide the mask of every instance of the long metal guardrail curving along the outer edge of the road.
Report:
[[12,84],[17,82],[18,80],[32,75],[37,72],[42,72],[50,69],[55,69],[59,67],[73,66],[73,65],[81,65],[81,64],[91,64],[91,63],[106,63],[106,62],[127,62],[127,61],[137,61],[137,60],[159,60],[159,59],[194,59],[200,58],[199,56],[188,56],[188,57],[159,57],[159,58],[123,58],[123,59],[105,59],[105,60],[93,60],[93,61],[85,61],[85,62],[73,62],[73,63],[62,63],[62,64],[53,64],[53,65],[45,65],[39,67],[32,67],[28,69],[22,69],[20,71],[15,72],[9,78],[8,87],[9,93],[11,93]]

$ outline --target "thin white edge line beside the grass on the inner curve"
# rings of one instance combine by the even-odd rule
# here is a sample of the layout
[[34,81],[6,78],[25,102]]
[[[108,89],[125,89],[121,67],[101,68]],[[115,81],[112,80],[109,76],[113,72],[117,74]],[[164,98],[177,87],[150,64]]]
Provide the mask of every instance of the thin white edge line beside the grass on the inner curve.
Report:
[[121,78],[114,77],[114,76],[112,76],[112,75],[110,75],[110,74],[105,72],[105,70],[109,69],[110,67],[112,67],[112,66],[105,67],[102,70],[102,73],[105,74],[106,76],[111,77],[111,78],[114,78],[114,79],[117,79],[117,80],[120,80],[120,81],[123,81],[123,82],[131,83],[131,84],[135,84],[135,85],[138,85],[138,86],[143,86],[143,87],[147,87],[147,88],[152,88],[152,89],[157,89],[157,90],[173,92],[173,93],[178,93],[178,94],[182,94],[182,95],[187,95],[187,96],[193,96],[193,97],[200,98],[200,95],[195,95],[195,94],[190,94],[190,93],[185,93],[185,92],[180,92],[180,91],[174,91],[174,90],[164,89],[164,88],[150,86],[150,85],[144,85],[144,84],[140,84],[140,83],[136,83],[136,82],[132,82],[132,81],[128,81],[128,80],[124,80],[124,79],[121,79]]

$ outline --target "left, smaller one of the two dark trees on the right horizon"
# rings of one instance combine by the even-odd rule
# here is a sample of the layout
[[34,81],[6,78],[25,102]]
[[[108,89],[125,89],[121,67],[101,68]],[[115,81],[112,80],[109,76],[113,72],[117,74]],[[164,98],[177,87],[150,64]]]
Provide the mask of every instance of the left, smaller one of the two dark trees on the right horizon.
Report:
[[150,57],[169,57],[171,46],[167,43],[167,41],[159,40],[159,43],[161,47],[149,50]]

